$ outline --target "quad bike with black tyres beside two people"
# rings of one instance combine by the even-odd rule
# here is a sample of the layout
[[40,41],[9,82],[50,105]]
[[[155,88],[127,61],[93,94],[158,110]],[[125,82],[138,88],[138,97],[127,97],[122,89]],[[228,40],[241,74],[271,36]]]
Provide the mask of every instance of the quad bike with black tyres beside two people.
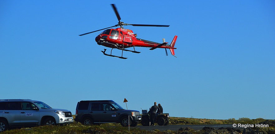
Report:
[[[169,124],[169,113],[164,114],[156,114],[155,123],[158,123],[159,126],[166,126]],[[141,116],[141,124],[142,126],[151,126],[150,124],[150,114],[147,113],[147,110],[142,110]]]

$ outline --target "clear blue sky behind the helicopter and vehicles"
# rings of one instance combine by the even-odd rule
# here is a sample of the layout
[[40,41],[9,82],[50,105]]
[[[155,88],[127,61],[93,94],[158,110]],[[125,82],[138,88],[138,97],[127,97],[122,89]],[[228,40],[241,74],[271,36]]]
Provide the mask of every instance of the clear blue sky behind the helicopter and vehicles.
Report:
[[[275,119],[275,1],[116,2],[138,38],[171,42],[137,47],[123,60],[104,56],[82,33],[117,24],[114,1],[0,1],[0,99],[40,100],[69,109],[114,100],[128,109],[154,101],[173,117]],[[110,52],[110,48],[107,51]],[[121,51],[113,50],[120,55]]]

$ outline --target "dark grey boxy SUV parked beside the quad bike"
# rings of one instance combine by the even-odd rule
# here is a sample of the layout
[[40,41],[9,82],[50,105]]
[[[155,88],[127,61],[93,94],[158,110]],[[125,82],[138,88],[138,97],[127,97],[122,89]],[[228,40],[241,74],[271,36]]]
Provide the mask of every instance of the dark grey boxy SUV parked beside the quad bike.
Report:
[[[130,120],[128,120],[130,118]],[[125,110],[112,100],[79,101],[75,110],[77,123],[92,125],[93,123],[120,123],[126,127],[135,127],[141,120],[140,111]]]

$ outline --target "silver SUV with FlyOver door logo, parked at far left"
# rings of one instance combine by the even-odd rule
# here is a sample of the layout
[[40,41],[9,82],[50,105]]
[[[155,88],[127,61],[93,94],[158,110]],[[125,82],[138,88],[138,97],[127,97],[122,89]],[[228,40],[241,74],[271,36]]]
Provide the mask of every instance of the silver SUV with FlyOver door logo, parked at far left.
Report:
[[9,126],[37,126],[73,123],[72,113],[53,109],[41,101],[30,99],[0,100],[0,132]]

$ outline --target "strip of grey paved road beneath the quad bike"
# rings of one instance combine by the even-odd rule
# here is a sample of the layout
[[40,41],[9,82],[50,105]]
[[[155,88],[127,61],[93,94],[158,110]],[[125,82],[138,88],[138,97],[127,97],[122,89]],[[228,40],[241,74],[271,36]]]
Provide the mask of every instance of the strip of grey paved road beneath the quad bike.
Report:
[[236,128],[236,129],[244,129],[242,127],[233,127],[232,124],[207,124],[207,125],[167,125],[167,126],[136,126],[139,127],[140,129],[144,130],[154,130],[158,129],[160,131],[165,131],[165,130],[173,130],[177,131],[180,127],[186,128],[190,127],[194,130],[202,130],[203,127],[213,127],[215,129],[219,129],[220,127],[231,127],[231,128]]

